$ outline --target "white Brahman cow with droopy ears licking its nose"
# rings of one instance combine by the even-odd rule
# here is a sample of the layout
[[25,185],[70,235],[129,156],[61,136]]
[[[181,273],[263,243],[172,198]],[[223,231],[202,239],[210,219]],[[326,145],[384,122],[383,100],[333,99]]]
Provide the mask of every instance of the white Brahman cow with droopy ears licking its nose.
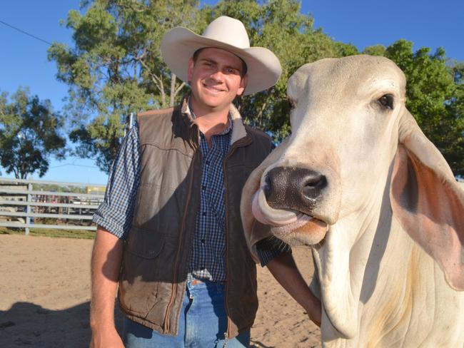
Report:
[[403,72],[323,59],[288,98],[292,133],[243,189],[251,251],[312,246],[324,347],[463,347],[464,190],[406,110]]

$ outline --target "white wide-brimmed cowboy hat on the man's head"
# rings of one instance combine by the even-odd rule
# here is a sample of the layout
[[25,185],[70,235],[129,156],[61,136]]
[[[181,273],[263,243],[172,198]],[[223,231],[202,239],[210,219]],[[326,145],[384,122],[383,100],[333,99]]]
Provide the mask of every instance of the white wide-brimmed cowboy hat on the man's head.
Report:
[[203,36],[177,26],[164,34],[161,54],[171,71],[188,82],[188,59],[200,48],[222,48],[243,59],[247,66],[248,84],[243,95],[263,91],[276,84],[281,76],[281,63],[264,47],[250,47],[245,26],[238,19],[221,16],[203,31]]

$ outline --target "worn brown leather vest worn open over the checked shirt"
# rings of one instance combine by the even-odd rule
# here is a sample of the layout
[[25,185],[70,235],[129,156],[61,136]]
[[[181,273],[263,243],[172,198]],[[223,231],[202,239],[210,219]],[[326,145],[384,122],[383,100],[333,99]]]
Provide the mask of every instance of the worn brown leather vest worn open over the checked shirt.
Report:
[[[178,331],[201,189],[198,126],[185,102],[182,111],[138,115],[141,180],[119,279],[128,318],[171,335]],[[248,175],[271,152],[268,135],[243,126],[233,106],[231,116],[231,150],[223,161],[228,337],[249,329],[258,309],[256,264],[243,235],[240,199]]]

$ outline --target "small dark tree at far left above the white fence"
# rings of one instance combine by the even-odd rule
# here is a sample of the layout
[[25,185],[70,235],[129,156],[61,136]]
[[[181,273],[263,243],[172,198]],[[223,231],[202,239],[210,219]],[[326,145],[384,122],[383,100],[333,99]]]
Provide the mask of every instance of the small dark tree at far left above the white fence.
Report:
[[64,158],[66,139],[60,134],[64,124],[54,113],[49,100],[29,96],[19,88],[8,102],[8,93],[0,95],[0,163],[6,173],[25,179],[36,170],[43,176],[51,155]]

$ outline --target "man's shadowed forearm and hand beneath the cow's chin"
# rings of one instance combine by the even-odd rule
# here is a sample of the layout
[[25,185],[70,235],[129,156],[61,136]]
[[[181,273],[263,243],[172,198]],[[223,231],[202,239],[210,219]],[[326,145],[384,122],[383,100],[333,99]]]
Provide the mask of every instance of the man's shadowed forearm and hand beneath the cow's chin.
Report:
[[282,287],[303,307],[318,327],[321,326],[321,301],[313,295],[296,267],[291,253],[284,252],[266,265]]

